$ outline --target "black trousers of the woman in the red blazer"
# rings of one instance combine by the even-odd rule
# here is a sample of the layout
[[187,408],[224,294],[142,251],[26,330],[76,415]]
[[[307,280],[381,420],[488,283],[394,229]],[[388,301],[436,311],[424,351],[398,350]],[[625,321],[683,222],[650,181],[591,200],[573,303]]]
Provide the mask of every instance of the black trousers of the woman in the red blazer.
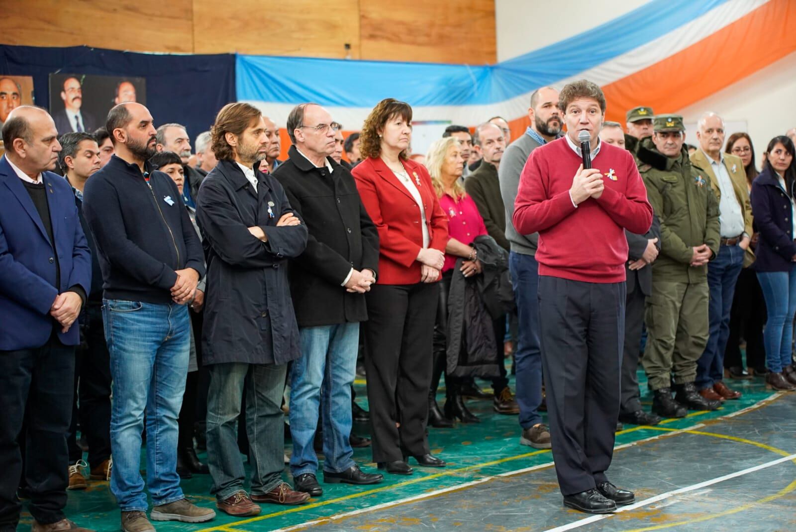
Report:
[[374,462],[429,452],[426,422],[438,297],[436,283],[374,284],[365,295],[369,315],[365,369]]

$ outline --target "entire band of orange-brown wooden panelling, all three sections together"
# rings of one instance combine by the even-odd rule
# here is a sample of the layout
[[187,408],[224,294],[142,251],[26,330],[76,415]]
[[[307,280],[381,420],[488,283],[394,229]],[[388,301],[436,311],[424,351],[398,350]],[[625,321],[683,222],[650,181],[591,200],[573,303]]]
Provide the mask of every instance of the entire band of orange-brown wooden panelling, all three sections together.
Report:
[[0,0],[0,42],[470,65],[496,57],[494,0]]

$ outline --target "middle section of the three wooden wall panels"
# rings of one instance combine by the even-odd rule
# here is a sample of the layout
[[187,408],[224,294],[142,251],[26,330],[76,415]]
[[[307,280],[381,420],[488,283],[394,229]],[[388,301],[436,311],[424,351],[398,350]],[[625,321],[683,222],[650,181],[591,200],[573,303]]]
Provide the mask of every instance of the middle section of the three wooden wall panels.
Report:
[[193,0],[195,53],[359,58],[358,0]]

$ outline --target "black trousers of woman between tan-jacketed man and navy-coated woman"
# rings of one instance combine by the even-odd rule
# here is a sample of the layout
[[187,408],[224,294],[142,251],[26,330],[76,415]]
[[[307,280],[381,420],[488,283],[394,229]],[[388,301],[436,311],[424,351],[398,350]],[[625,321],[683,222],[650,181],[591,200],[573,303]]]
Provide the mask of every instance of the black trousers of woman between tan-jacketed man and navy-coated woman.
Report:
[[746,366],[765,368],[766,348],[763,346],[763,326],[766,324],[766,299],[752,268],[743,268],[738,276],[736,293],[730,310],[730,335],[724,349],[724,367],[741,367],[741,337],[747,343]]

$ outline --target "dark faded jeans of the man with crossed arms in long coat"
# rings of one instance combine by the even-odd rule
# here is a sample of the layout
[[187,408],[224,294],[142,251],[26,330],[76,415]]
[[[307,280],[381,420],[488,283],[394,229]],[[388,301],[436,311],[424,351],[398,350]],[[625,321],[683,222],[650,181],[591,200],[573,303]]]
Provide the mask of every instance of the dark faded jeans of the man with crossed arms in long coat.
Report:
[[264,495],[282,483],[285,467],[282,394],[287,364],[228,362],[213,364],[209,371],[207,463],[213,476],[210,492],[224,500],[244,489],[246,471],[238,448],[238,418],[245,385],[252,495]]

